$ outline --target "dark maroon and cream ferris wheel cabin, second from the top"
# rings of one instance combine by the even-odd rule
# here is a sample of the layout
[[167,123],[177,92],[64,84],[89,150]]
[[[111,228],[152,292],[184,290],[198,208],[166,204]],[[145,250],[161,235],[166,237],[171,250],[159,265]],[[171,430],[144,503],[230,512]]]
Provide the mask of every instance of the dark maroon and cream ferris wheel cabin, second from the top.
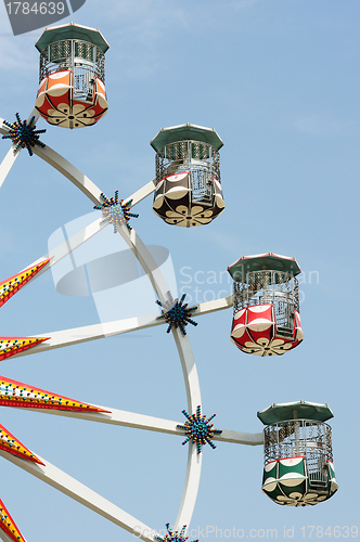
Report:
[[208,224],[223,211],[223,143],[214,129],[190,124],[162,128],[151,145],[156,151],[153,210],[158,217],[191,228]]

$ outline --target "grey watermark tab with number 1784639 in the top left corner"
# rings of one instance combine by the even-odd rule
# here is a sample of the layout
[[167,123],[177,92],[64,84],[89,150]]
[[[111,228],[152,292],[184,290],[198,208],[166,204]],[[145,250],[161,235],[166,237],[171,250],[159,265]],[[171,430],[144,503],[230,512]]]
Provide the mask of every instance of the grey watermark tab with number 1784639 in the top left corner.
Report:
[[57,23],[78,11],[86,0],[3,0],[14,36]]

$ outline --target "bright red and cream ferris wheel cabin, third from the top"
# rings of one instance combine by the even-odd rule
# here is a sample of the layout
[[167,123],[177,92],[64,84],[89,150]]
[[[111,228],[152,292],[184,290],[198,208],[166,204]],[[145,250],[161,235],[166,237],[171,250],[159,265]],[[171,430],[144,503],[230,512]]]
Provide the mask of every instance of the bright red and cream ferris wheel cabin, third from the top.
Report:
[[228,268],[233,279],[231,340],[245,353],[281,356],[304,338],[299,315],[301,272],[295,258],[243,256]]

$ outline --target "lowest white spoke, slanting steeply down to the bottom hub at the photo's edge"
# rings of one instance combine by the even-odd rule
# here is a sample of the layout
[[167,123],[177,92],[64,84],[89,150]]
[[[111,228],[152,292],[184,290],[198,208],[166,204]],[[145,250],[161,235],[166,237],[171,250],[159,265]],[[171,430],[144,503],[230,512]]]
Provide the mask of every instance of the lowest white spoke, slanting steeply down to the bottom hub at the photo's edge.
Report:
[[4,452],[3,450],[0,450],[0,455],[46,483],[49,483],[49,486],[52,486],[62,493],[70,496],[80,504],[83,504],[97,514],[100,514],[110,521],[123,527],[123,529],[137,535],[137,538],[144,540],[145,542],[154,542],[153,535],[151,534],[151,532],[154,531],[150,527],[139,521],[139,519],[133,516],[130,516],[130,514],[127,514],[125,511],[99,495],[87,486],[79,482],[39,455],[37,455],[37,457],[44,465],[38,465],[30,461],[23,460],[22,457],[16,457],[15,455]]

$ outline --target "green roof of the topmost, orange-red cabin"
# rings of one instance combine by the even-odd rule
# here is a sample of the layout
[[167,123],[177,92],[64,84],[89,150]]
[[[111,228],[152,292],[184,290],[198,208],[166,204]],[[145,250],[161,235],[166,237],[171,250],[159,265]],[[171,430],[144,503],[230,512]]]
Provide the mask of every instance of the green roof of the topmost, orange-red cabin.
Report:
[[80,39],[82,41],[89,41],[99,47],[103,53],[106,53],[110,48],[110,44],[100,30],[89,28],[88,26],[76,25],[75,23],[46,28],[35,43],[35,47],[41,53],[50,43],[61,41],[62,39]]

